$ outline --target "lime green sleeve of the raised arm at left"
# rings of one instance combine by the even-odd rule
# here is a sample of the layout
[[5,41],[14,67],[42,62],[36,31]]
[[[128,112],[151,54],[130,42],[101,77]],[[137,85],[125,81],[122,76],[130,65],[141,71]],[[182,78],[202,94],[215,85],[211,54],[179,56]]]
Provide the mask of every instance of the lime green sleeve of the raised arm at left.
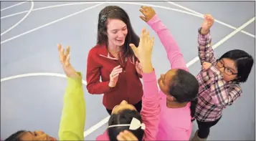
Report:
[[78,79],[67,78],[62,117],[60,120],[60,140],[84,140],[85,98],[82,89],[82,76]]

